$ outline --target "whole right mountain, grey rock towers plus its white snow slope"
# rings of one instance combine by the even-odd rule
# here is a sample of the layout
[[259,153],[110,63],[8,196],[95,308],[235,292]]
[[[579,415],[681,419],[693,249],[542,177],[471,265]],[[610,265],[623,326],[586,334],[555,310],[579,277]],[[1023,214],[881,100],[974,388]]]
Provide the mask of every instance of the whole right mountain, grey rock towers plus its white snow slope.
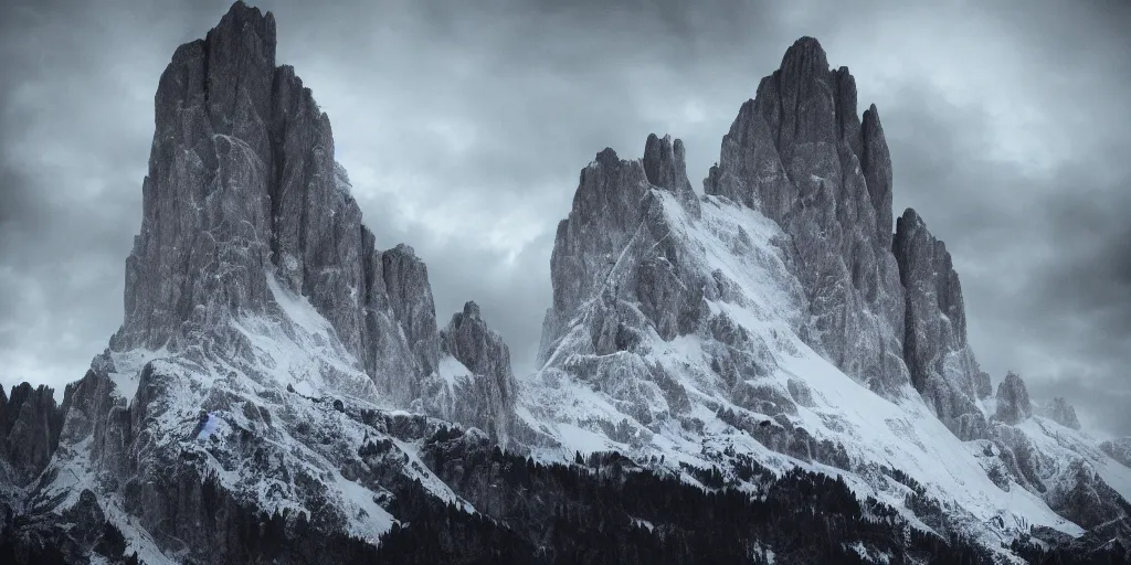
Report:
[[[1017,375],[992,398],[950,251],[915,210],[892,226],[879,111],[856,107],[848,70],[803,37],[740,108],[702,195],[690,198],[679,140],[596,155],[555,234],[541,368],[519,382],[532,441],[570,453],[580,434],[642,458],[688,445],[725,461],[749,440],[873,485],[878,462],[953,478],[974,461],[955,488],[1042,501],[1061,513],[1054,528],[1120,519],[1103,496],[1065,502],[1131,485],[1098,442],[1063,414],[1030,417]],[[830,367],[853,392],[820,376]],[[864,428],[898,441],[872,451],[854,435]],[[918,459],[939,442],[955,451]]]

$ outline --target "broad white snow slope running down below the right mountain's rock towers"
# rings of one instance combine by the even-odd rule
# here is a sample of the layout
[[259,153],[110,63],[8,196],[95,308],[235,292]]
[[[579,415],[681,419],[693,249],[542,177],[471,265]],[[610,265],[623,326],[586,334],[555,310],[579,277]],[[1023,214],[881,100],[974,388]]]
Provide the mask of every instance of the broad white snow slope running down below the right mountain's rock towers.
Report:
[[[555,440],[538,450],[541,457],[561,460],[575,451],[618,449],[641,460],[663,455],[673,469],[684,461],[719,464],[725,470],[732,454],[750,453],[779,470],[801,466],[832,475],[847,471],[846,480],[862,498],[872,495],[903,506],[907,489],[881,472],[886,466],[924,485],[931,497],[950,508],[952,524],[987,544],[996,545],[999,538],[1030,525],[1070,534],[1082,531],[1039,496],[1017,485],[1008,492],[995,485],[976,457],[979,444],[959,441],[909,385],[895,401],[881,398],[805,345],[797,334],[804,303],[798,282],[785,267],[779,243],[784,234],[776,224],[726,199],[703,198],[701,218],[696,218],[670,192],[653,189],[651,195],[663,202],[670,229],[666,238],[677,242],[683,266],[714,271],[722,286],[729,288],[707,301],[711,319],[741,328],[749,336],[745,341],[756,344],[763,366],[771,367],[744,384],[766,398],[778,394],[792,400],[796,411],[771,416],[751,409],[750,402],[737,402],[734,391],[743,383],[731,385],[711,371],[711,351],[719,344],[702,328],[665,341],[649,327],[647,344],[608,356],[594,355],[588,341],[595,298],[568,324],[541,372],[524,383],[519,417]],[[627,272],[630,268],[612,267],[610,281],[595,288],[594,295],[616,286],[616,269]],[[603,363],[616,368],[581,368]],[[679,386],[655,379],[656,372],[649,368],[655,365]],[[688,407],[675,406],[681,394],[672,393],[673,389],[685,391]],[[758,423],[756,433],[783,426],[804,429],[817,441],[841,445],[847,460],[830,466],[821,462],[828,457],[779,453],[767,445],[772,443],[770,434],[759,441],[733,425],[733,418],[720,418],[719,412],[726,410]],[[1112,483],[1124,480],[1121,470],[1100,468]]]

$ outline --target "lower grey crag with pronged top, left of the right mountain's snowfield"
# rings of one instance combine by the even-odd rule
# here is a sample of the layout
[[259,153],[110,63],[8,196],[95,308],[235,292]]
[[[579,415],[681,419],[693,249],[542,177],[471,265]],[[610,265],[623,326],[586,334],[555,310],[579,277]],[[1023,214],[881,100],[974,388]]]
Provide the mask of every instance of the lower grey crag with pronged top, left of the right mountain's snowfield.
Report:
[[663,203],[650,193],[653,188],[671,192],[689,214],[698,214],[683,145],[670,140],[649,136],[646,158],[634,160],[606,148],[581,171],[573,209],[558,225],[550,260],[554,304],[543,324],[543,355],[590,297],[599,306],[589,319],[597,355],[631,349],[646,325],[668,340],[697,327],[700,275],[685,268],[679,244],[667,241]]

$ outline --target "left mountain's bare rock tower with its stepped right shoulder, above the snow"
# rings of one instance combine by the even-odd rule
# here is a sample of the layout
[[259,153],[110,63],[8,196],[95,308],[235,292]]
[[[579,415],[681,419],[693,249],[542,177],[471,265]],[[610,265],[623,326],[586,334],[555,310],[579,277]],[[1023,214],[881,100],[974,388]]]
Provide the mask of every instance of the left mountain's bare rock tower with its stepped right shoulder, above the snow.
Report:
[[112,349],[238,341],[234,316],[278,313],[274,277],[330,322],[380,390],[411,397],[411,375],[439,355],[428,271],[409,247],[374,247],[329,119],[294,69],[275,64],[274,17],[236,1],[181,45],[155,121]]

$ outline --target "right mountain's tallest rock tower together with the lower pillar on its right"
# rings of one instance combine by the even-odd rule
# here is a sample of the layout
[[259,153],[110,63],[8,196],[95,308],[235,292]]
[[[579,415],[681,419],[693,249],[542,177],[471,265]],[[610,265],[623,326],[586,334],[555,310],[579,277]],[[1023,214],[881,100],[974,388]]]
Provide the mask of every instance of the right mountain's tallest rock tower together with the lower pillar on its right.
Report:
[[789,235],[812,320],[805,334],[841,371],[886,395],[904,383],[964,438],[990,377],[966,341],[950,255],[913,210],[891,233],[891,157],[879,112],[856,114],[856,84],[803,37],[762,79],[703,183]]

